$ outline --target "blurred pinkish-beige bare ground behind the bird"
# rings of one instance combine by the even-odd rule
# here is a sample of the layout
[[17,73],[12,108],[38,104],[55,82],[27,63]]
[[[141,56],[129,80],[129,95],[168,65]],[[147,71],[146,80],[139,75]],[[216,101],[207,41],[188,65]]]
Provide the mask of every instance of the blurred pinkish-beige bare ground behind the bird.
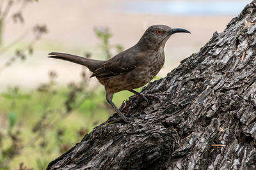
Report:
[[[48,59],[49,52],[67,52],[83,55],[92,52],[93,58],[102,57],[99,52],[99,39],[93,28],[96,26],[108,27],[113,33],[111,44],[120,43],[125,49],[135,45],[145,29],[154,24],[165,24],[171,27],[181,27],[192,32],[189,34],[175,34],[166,43],[166,62],[160,77],[166,76],[180,60],[189,57],[207,43],[213,32],[225,29],[231,18],[235,16],[170,16],[124,13],[113,9],[120,0],[82,1],[76,3],[61,0],[44,0],[29,4],[24,11],[25,24],[17,25],[8,22],[4,32],[4,43],[8,44],[19,36],[20,31],[27,31],[35,24],[46,24],[49,33],[42,41],[36,44],[35,55],[25,62],[17,62],[4,70],[0,76],[0,90],[8,86],[36,87],[47,81],[47,72],[55,70],[58,73],[57,81],[67,83],[79,78],[81,66],[65,61]],[[19,8],[17,6],[17,8]],[[238,13],[237,13],[238,14]],[[0,58],[0,64],[13,55],[5,53]]]

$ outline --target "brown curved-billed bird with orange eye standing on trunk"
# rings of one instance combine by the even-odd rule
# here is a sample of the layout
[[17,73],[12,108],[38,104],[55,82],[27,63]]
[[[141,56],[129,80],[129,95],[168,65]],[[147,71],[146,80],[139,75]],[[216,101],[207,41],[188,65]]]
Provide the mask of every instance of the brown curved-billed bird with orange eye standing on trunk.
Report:
[[92,71],[90,77],[95,76],[104,85],[106,101],[114,108],[120,120],[130,123],[132,118],[125,117],[113,103],[113,94],[128,90],[148,101],[145,94],[136,92],[134,89],[143,87],[159,73],[164,65],[166,41],[177,32],[191,34],[186,29],[152,25],[148,27],[136,45],[108,60],[88,59],[60,52],[51,52],[49,57],[68,60],[88,67]]

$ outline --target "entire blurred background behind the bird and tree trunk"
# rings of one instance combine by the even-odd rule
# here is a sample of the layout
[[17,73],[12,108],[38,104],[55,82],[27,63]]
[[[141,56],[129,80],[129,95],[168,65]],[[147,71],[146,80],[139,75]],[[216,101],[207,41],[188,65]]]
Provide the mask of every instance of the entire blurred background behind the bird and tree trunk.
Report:
[[[248,0],[0,0],[0,169],[45,169],[115,113],[90,71],[49,52],[109,59],[150,25],[184,28],[156,79],[222,32]],[[141,90],[141,89],[138,89]],[[115,94],[120,106],[132,96]]]

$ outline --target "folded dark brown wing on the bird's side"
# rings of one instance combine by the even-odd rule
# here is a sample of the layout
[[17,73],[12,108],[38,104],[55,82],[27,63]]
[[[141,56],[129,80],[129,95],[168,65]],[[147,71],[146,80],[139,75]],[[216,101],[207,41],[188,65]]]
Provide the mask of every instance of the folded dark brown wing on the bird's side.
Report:
[[95,70],[91,77],[99,76],[102,78],[110,78],[118,74],[127,73],[137,66],[137,62],[134,58],[134,53],[119,53],[104,63],[102,67]]

